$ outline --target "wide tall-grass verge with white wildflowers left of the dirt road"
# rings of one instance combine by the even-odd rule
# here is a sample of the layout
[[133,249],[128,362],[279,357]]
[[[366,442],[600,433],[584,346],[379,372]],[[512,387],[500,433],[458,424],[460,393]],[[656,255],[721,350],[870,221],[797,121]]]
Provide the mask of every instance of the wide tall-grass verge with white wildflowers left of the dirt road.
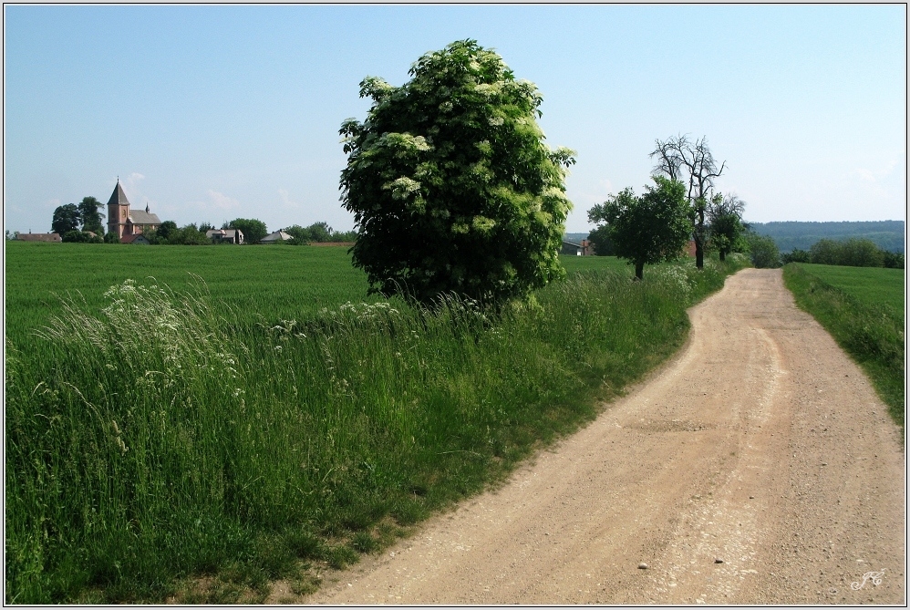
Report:
[[738,262],[574,274],[498,320],[457,299],[223,315],[131,282],[70,303],[6,345],[5,601],[305,591],[593,419]]

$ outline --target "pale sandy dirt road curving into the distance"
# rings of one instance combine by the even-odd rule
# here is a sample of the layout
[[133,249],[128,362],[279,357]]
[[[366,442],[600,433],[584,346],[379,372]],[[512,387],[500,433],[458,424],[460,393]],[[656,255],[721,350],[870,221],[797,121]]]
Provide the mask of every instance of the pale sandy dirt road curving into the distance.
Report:
[[302,601],[905,604],[905,456],[859,368],[780,270],[690,315],[593,424]]

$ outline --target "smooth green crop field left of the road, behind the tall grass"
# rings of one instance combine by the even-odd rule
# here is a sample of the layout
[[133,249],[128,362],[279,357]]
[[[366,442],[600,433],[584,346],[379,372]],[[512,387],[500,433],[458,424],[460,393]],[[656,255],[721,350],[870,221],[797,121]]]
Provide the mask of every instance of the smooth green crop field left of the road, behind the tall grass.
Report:
[[[6,334],[17,344],[60,311],[59,296],[78,291],[90,307],[104,304],[115,284],[154,277],[173,289],[208,285],[213,304],[254,311],[269,322],[303,319],[322,307],[374,303],[366,275],[351,266],[347,248],[98,247],[84,243],[7,242]],[[562,256],[567,273],[628,271],[615,256]],[[631,272],[629,272],[631,273]]]

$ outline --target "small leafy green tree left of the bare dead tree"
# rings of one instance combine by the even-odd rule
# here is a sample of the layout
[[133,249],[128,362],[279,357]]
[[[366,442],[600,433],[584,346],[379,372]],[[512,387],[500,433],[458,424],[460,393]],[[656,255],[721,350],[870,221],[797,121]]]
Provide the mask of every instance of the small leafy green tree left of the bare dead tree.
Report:
[[656,186],[646,186],[641,197],[629,188],[588,211],[590,222],[605,222],[616,256],[635,264],[638,280],[646,264],[677,259],[692,233],[685,185],[663,176],[653,180]]

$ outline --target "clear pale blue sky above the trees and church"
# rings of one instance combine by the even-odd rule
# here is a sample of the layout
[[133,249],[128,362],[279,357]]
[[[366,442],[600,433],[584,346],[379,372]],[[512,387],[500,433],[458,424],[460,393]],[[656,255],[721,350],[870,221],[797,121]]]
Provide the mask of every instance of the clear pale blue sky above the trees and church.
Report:
[[367,75],[474,38],[543,93],[577,151],[569,232],[648,181],[656,138],[707,136],[747,219],[905,219],[903,5],[5,6],[4,222],[117,176],[162,220],[326,221]]

